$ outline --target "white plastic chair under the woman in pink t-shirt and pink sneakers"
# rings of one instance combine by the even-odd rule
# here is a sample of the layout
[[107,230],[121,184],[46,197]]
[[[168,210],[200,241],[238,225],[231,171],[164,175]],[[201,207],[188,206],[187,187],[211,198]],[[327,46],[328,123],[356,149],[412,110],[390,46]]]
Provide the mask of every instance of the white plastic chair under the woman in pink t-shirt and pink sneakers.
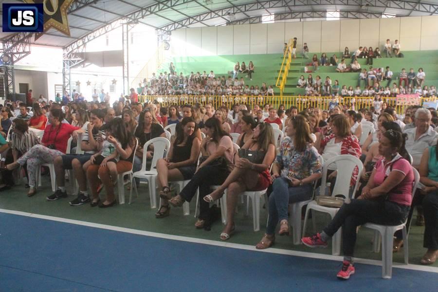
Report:
[[[412,199],[414,199],[415,192],[417,191],[420,174],[417,169],[412,167],[414,171],[414,187],[412,189]],[[375,223],[365,223],[363,227],[374,229],[374,241],[373,250],[375,253],[379,252],[382,242],[382,278],[390,279],[392,277],[392,245],[394,243],[394,233],[398,230],[402,230],[403,234],[403,256],[404,263],[409,263],[409,250],[408,250],[408,234],[406,231],[407,219],[400,225],[380,225]]]

